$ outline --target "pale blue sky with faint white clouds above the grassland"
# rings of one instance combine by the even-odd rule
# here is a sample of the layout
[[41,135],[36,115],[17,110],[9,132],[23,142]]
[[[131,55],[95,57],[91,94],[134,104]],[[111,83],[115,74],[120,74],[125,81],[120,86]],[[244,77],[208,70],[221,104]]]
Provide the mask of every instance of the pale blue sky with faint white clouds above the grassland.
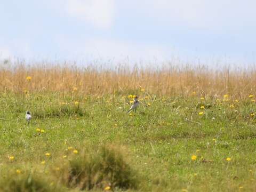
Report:
[[254,63],[256,1],[0,0],[0,58]]

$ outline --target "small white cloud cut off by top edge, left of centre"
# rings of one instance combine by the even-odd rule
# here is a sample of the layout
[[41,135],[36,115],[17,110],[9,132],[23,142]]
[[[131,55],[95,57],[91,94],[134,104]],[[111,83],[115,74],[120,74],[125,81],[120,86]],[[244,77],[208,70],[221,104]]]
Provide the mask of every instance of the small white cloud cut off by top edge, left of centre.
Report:
[[114,0],[68,0],[67,12],[94,26],[108,28],[114,19]]

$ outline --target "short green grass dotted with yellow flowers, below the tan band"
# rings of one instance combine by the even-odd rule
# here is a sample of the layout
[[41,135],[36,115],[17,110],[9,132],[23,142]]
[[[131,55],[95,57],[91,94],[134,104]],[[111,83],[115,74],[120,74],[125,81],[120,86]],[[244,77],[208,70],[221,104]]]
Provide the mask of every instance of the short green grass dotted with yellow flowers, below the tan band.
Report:
[[[2,93],[1,177],[9,181],[21,177],[26,183],[29,173],[35,173],[40,175],[39,181],[34,182],[38,186],[46,182],[49,190],[56,187],[61,191],[91,188],[102,191],[106,185],[111,185],[114,191],[127,188],[130,191],[256,190],[256,115],[251,115],[256,112],[254,102],[249,98],[217,102],[211,97],[202,101],[196,95],[188,98],[150,95],[143,99],[144,94],[137,94],[141,105],[137,113],[129,115],[126,114],[128,94],[124,98],[56,92]],[[29,124],[25,121],[26,110],[33,116]],[[204,114],[198,115],[200,111]],[[37,128],[45,132],[40,133]],[[101,148],[110,151],[111,161],[103,158]],[[73,153],[74,149],[78,150],[77,154]],[[191,160],[192,155],[197,156],[195,161]],[[10,156],[14,159],[10,160]],[[64,170],[68,175],[72,162],[76,167],[89,166],[81,168],[89,170],[83,172],[84,178],[93,173],[92,177],[101,178],[100,185],[66,185],[67,180],[58,171]],[[21,170],[20,174],[16,173],[17,169]],[[105,171],[99,173],[99,170]],[[133,184],[116,185],[118,177],[108,174],[121,175]],[[3,182],[1,190],[6,191]]]

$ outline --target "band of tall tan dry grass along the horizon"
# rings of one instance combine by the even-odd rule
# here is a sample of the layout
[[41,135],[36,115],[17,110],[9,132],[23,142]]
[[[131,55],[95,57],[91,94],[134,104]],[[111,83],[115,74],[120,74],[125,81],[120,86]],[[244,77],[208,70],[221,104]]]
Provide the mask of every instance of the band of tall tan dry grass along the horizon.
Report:
[[[0,63],[0,90],[21,93],[31,91],[70,92],[77,88],[82,94],[113,94],[145,89],[149,93],[189,95],[196,91],[201,95],[229,93],[247,95],[255,92],[256,70],[212,70],[204,66],[163,66],[161,69],[128,68],[119,66],[113,70],[99,67],[66,67],[43,65],[32,67],[22,62]],[[7,67],[6,67],[7,66]],[[26,79],[31,76],[31,80]]]

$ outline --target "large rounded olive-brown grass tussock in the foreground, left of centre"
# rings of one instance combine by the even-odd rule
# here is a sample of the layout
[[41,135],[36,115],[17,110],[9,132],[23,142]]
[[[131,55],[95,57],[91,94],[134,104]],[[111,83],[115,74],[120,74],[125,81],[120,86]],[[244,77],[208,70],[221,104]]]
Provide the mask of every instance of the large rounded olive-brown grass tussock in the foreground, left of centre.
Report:
[[90,190],[94,188],[135,189],[138,186],[137,172],[124,161],[120,151],[102,147],[77,156],[58,172],[62,182],[69,188]]

